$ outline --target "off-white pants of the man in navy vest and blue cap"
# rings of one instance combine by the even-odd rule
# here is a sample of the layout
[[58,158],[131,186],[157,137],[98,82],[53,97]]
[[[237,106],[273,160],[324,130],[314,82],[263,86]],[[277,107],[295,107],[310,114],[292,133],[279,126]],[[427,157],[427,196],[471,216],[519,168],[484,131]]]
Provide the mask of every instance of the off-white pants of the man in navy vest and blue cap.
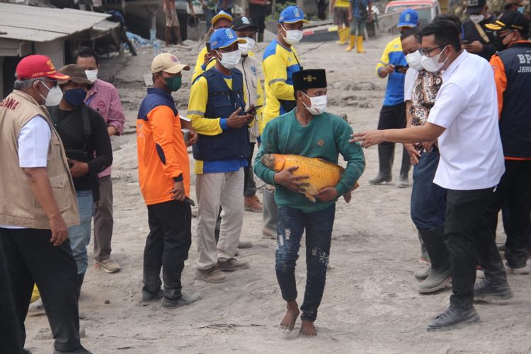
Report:
[[[226,173],[204,173],[195,176],[198,199],[198,264],[207,270],[217,261],[234,258],[244,222],[244,169]],[[214,236],[219,206],[222,223],[219,241]]]

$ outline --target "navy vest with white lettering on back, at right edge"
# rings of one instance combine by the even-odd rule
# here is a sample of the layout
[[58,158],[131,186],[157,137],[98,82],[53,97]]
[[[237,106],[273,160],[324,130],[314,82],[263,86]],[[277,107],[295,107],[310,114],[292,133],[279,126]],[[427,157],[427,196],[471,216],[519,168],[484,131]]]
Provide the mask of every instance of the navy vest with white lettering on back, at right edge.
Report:
[[507,76],[500,135],[506,157],[531,157],[531,42],[498,52]]

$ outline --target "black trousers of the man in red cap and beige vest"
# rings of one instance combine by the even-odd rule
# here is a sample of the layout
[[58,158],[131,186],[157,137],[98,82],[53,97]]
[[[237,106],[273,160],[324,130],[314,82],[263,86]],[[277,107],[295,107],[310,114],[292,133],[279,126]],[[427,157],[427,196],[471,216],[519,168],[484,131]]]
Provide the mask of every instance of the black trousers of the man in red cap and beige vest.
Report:
[[[0,228],[0,257],[7,265],[18,340],[25,342],[25,316],[37,284],[50,329],[58,351],[81,348],[79,341],[79,311],[77,307],[77,265],[69,241],[60,246],[50,243],[52,232],[44,229]],[[6,304],[2,301],[1,306]],[[4,318],[0,319],[4,321]],[[6,333],[0,333],[5,336]],[[1,341],[4,347],[4,341]],[[1,350],[0,350],[1,351]]]

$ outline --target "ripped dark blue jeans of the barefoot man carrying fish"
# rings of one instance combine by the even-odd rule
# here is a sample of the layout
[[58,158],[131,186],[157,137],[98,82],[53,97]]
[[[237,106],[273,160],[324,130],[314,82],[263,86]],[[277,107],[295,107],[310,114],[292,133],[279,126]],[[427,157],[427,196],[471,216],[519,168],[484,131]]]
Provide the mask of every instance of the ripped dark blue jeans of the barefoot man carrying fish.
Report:
[[292,207],[279,207],[275,270],[282,299],[297,299],[295,263],[299,258],[299,246],[306,229],[306,292],[301,306],[301,319],[315,321],[321,304],[329,265],[330,241],[336,204],[324,210],[304,214]]

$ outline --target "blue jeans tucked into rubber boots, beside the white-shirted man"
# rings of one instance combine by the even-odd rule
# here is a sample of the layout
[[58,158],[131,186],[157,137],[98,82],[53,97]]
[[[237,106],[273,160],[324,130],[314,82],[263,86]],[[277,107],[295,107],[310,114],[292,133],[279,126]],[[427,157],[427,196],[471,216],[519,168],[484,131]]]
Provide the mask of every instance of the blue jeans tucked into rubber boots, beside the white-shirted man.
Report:
[[411,219],[421,231],[435,229],[445,222],[446,190],[433,183],[439,158],[439,150],[433,147],[431,152],[423,151],[413,167]]

